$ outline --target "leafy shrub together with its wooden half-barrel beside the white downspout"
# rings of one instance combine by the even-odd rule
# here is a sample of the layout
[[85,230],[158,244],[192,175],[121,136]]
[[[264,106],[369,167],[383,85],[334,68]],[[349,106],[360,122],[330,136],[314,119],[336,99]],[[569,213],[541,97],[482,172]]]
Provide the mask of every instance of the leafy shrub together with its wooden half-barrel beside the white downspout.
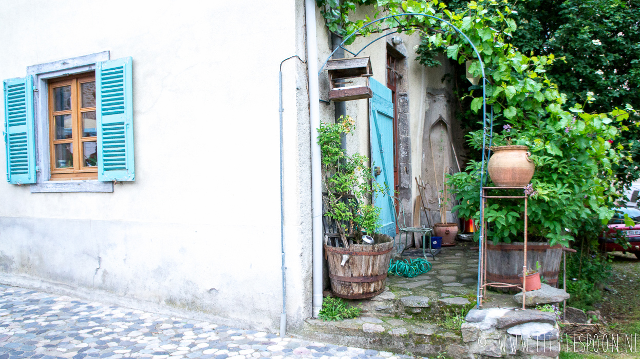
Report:
[[[381,188],[371,181],[368,158],[359,153],[347,155],[340,148],[340,137],[354,128],[351,116],[340,116],[337,123],[321,123],[318,144],[325,190],[324,251],[332,291],[342,298],[360,299],[385,290],[394,242],[390,236],[376,234],[380,208],[371,200]],[[372,237],[373,243],[363,243],[363,236]]]

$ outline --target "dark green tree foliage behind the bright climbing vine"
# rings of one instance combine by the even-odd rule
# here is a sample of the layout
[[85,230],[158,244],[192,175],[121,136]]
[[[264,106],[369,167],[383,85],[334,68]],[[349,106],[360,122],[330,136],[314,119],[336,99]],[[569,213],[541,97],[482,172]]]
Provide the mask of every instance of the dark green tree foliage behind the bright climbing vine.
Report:
[[[445,2],[456,12],[465,11],[470,3]],[[625,108],[627,103],[640,106],[640,1],[510,0],[509,6],[513,9],[509,17],[518,30],[504,40],[523,54],[553,54],[563,59],[547,65],[545,74],[566,95],[567,103],[584,102],[589,93],[596,93],[587,106],[590,112],[610,112]],[[426,60],[420,62],[429,65]],[[468,83],[464,76],[456,80]],[[461,113],[460,119],[466,126],[477,126],[470,111]],[[636,121],[637,117],[622,121],[629,130],[614,140],[614,146],[623,144],[629,155],[612,164],[618,188],[640,176],[640,128],[633,126]]]

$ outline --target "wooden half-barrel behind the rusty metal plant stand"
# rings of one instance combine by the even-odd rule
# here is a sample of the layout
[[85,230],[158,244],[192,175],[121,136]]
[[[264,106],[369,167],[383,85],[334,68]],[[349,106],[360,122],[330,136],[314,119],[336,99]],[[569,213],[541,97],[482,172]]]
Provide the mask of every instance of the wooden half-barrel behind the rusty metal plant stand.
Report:
[[[547,243],[527,243],[527,268],[536,268],[540,262],[541,277],[547,284],[557,287],[562,246]],[[524,263],[524,243],[486,243],[486,281],[522,285],[522,264]],[[515,290],[515,289],[514,289]]]

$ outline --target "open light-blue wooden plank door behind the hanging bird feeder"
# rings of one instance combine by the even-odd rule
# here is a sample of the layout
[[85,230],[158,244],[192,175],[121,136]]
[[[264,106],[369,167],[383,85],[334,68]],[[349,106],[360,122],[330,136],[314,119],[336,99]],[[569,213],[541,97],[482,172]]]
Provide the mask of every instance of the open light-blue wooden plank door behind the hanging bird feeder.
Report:
[[[374,195],[373,202],[380,208],[380,233],[396,236],[396,220],[392,195],[394,194],[394,103],[391,90],[380,82],[369,82],[373,97],[369,99],[369,131],[371,137],[371,166],[374,180],[385,188],[384,194]],[[380,167],[380,173],[376,171]]]

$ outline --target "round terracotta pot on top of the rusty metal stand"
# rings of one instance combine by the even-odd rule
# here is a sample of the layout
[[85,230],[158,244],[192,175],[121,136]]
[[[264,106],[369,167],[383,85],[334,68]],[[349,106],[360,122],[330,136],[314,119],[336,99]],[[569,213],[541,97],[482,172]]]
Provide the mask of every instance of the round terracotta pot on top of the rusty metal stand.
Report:
[[527,146],[499,146],[492,150],[489,176],[496,186],[525,187],[531,182],[536,166]]

